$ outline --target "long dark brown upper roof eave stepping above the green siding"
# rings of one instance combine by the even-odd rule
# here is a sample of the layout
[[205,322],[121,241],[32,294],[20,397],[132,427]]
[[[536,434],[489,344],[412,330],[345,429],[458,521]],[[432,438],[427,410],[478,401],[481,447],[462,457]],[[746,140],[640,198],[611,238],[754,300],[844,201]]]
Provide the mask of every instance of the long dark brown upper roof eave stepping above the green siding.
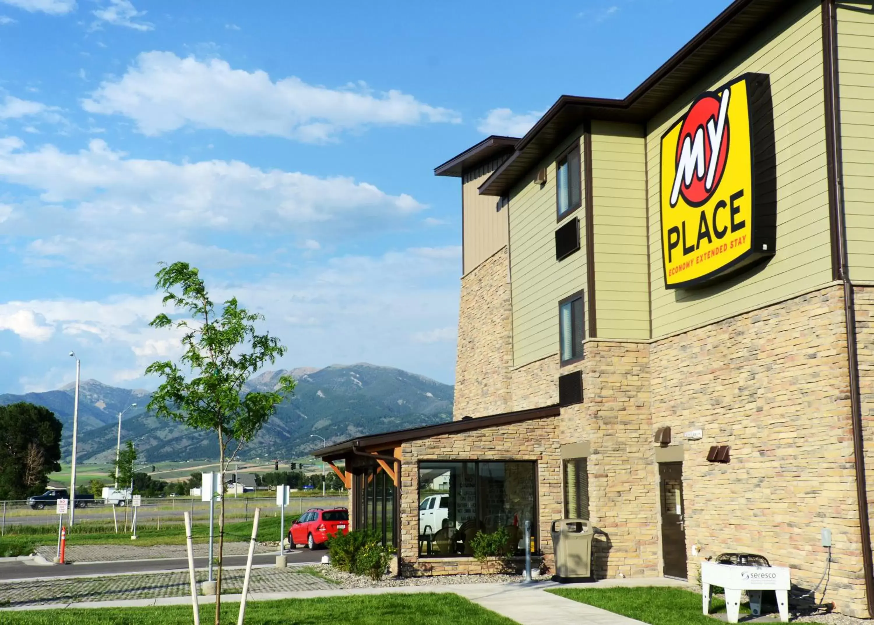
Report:
[[506,195],[585,120],[648,121],[730,52],[796,3],[796,0],[736,0],[622,100],[561,96],[518,141],[513,155],[482,183],[480,193]]

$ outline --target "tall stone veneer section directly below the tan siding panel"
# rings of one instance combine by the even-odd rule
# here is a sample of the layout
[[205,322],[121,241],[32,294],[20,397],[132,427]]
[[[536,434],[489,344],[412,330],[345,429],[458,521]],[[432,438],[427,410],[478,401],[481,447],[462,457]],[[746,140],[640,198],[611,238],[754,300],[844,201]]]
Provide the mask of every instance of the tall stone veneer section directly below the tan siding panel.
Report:
[[506,245],[461,278],[454,419],[510,411],[513,326]]

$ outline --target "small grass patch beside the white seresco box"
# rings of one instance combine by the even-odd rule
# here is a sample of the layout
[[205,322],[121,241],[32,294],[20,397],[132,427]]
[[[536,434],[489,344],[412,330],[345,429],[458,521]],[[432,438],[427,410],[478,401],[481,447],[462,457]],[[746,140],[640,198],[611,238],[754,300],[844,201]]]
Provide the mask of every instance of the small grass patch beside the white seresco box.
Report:
[[[714,625],[718,622],[701,613],[700,594],[682,588],[555,588],[547,592],[650,625]],[[725,612],[725,601],[711,599],[711,614],[717,612]],[[749,614],[749,605],[741,605],[740,612]]]

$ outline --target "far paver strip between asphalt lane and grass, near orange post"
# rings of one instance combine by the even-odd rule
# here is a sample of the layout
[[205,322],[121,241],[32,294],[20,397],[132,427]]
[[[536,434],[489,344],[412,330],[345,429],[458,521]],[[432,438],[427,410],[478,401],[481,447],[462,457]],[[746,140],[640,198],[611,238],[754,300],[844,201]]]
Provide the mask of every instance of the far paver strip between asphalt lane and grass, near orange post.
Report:
[[[279,543],[276,543],[277,545]],[[194,546],[196,557],[209,555],[209,545]],[[274,553],[278,546],[255,544],[255,553]],[[216,546],[218,550],[218,546]],[[52,561],[57,553],[54,545],[37,547],[38,555]],[[249,553],[249,543],[225,543],[225,555],[245,555]],[[68,545],[65,558],[68,562],[116,562],[119,560],[150,560],[156,558],[187,558],[188,551],[184,545]]]

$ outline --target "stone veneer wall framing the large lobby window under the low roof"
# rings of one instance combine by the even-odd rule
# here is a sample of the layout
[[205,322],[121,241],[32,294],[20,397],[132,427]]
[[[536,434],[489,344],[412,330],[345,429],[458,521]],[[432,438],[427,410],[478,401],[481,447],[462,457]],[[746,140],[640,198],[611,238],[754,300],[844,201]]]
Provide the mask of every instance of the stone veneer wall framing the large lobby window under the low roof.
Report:
[[538,463],[538,546],[554,570],[552,519],[561,518],[558,417],[447,434],[403,444],[400,567],[406,574],[482,573],[472,557],[419,558],[419,462],[433,460],[534,460]]

